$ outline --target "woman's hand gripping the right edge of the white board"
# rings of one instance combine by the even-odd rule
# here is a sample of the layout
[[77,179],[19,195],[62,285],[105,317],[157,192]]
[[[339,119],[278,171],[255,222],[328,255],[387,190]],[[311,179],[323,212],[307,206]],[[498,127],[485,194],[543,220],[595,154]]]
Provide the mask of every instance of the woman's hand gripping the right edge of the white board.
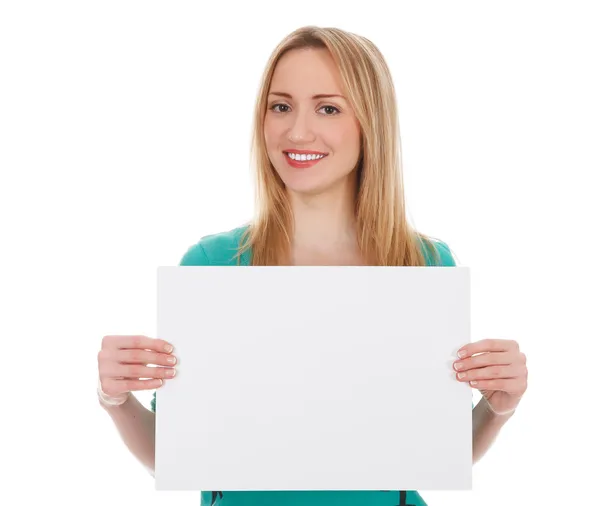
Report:
[[516,341],[484,339],[463,346],[454,362],[456,379],[481,391],[497,415],[512,413],[527,390],[525,354]]

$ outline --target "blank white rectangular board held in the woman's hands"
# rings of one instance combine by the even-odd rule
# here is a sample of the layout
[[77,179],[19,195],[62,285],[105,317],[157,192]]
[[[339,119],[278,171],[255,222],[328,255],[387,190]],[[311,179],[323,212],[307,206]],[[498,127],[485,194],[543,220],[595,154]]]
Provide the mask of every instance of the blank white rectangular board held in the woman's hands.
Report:
[[159,267],[157,324],[157,490],[471,488],[468,267]]

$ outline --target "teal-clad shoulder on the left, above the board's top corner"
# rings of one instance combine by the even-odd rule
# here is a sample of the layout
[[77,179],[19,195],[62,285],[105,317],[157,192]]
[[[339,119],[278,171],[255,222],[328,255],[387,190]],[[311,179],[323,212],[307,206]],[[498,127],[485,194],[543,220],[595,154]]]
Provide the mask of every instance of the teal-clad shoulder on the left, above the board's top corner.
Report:
[[179,265],[236,265],[240,240],[247,228],[246,225],[203,236],[187,249]]

